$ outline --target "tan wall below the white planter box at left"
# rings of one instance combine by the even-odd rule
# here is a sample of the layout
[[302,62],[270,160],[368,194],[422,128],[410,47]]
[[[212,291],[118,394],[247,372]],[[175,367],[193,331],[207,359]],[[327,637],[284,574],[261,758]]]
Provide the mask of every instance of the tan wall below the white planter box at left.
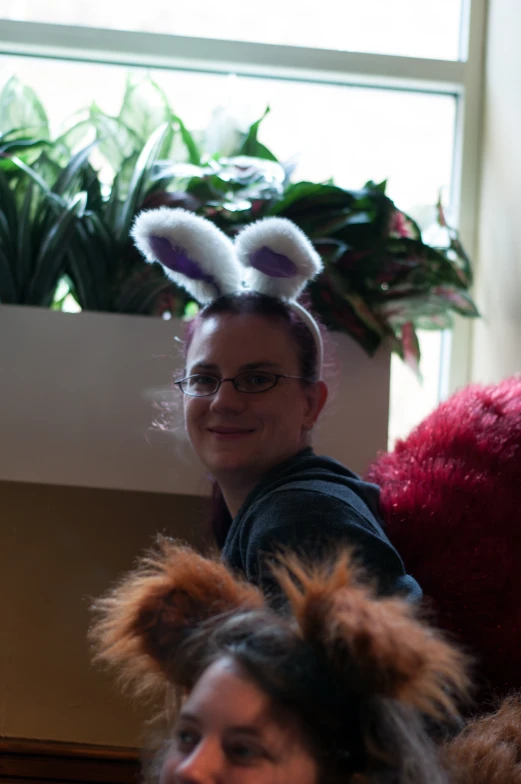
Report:
[[134,746],[146,712],[89,660],[89,601],[157,531],[203,544],[203,498],[0,482],[0,735]]

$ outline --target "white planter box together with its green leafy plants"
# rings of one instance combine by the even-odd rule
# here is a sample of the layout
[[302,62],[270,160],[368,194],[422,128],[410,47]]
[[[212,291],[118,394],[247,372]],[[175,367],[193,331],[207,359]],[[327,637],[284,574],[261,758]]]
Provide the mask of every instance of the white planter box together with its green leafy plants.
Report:
[[[182,361],[175,317],[196,306],[132,246],[129,228],[142,209],[181,206],[230,236],[281,215],[310,236],[325,270],[307,296],[336,330],[341,365],[350,369],[317,448],[355,470],[386,446],[389,351],[417,367],[418,327],[448,326],[455,312],[476,315],[470,265],[454,232],[447,229],[446,247],[424,242],[383,183],[360,191],[293,183],[259,141],[263,118],[220,149],[190,132],[153,82],[129,81],[116,117],[92,105],[52,137],[32,91],[16,80],[4,91],[4,479],[204,492],[186,445],[149,432],[152,405],[170,404],[169,379]],[[9,106],[18,113],[23,106],[23,116],[9,117]],[[80,314],[56,312],[71,302]]]

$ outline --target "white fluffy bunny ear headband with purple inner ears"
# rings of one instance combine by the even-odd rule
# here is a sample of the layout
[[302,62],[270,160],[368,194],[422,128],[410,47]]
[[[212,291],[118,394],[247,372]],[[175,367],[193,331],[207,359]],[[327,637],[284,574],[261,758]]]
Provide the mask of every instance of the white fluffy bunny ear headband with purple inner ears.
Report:
[[320,330],[296,299],[321,272],[322,260],[294,223],[286,218],[263,218],[246,226],[232,242],[205,218],[160,207],[138,215],[131,234],[145,259],[158,261],[174,283],[201,305],[224,294],[248,291],[286,302],[313,335],[321,374]]

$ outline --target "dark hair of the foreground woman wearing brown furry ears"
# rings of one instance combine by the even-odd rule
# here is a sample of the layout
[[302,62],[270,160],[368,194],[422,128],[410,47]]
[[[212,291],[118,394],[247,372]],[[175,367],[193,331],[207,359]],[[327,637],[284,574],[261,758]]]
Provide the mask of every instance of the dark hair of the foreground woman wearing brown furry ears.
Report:
[[447,782],[418,711],[376,694],[362,697],[272,613],[213,619],[176,657],[177,666],[184,662],[191,670],[192,685],[211,664],[230,657],[270,698],[274,715],[295,722],[317,763],[319,784],[346,784],[355,774],[371,784]]

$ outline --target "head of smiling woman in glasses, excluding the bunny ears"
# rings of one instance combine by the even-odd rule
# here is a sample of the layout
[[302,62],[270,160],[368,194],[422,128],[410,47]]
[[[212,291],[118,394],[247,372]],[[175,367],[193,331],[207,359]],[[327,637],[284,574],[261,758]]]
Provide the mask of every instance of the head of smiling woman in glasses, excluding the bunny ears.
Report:
[[[190,323],[185,426],[232,514],[268,471],[310,445],[327,397],[318,362],[309,326],[265,294],[220,297]],[[184,386],[205,391],[214,378],[236,381],[200,397]]]

